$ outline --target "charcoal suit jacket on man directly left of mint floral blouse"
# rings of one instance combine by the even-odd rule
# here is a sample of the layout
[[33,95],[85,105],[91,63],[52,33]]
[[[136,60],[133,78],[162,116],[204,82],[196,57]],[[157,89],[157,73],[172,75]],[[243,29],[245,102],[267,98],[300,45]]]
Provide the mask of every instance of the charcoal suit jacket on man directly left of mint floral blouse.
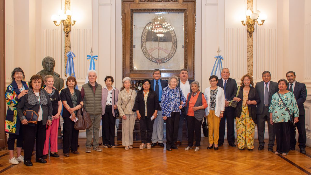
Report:
[[[264,81],[256,83],[256,92],[260,98],[260,103],[257,103],[257,114],[261,115],[264,107],[265,102],[265,91],[264,88],[266,87],[266,84]],[[271,104],[272,95],[279,91],[278,85],[276,82],[270,81],[269,84],[269,104]]]

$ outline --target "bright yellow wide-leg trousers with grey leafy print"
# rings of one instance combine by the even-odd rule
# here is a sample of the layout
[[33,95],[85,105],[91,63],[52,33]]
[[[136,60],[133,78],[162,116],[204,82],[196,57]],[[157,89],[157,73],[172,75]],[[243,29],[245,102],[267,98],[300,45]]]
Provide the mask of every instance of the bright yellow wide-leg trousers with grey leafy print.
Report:
[[254,148],[255,123],[248,115],[248,107],[242,106],[240,118],[236,117],[236,135],[239,149]]

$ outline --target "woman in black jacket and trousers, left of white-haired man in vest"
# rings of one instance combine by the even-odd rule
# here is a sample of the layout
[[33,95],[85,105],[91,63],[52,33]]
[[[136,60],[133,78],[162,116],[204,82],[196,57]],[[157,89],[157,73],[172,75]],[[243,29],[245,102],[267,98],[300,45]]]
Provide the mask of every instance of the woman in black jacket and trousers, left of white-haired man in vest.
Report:
[[79,131],[74,128],[74,120],[76,119],[77,111],[83,106],[83,99],[81,92],[76,89],[77,80],[75,77],[68,77],[66,85],[67,88],[60,92],[60,97],[64,106],[63,153],[65,157],[69,157],[69,150],[73,154],[80,154],[78,152]]

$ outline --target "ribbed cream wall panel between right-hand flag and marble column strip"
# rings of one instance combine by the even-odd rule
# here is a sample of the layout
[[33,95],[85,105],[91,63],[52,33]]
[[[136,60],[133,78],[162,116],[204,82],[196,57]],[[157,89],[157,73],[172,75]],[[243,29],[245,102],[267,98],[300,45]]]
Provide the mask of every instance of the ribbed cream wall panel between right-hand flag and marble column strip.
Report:
[[223,65],[230,69],[230,78],[240,79],[247,73],[247,31],[225,29],[225,55]]

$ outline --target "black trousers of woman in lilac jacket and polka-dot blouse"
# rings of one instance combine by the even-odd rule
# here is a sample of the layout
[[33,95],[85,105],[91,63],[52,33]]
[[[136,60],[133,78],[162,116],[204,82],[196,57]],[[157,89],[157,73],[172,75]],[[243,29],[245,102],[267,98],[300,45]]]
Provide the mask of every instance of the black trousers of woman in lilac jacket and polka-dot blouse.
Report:
[[112,105],[106,105],[105,114],[101,115],[103,145],[114,145],[114,128],[116,124],[116,118],[112,113],[112,107]]

